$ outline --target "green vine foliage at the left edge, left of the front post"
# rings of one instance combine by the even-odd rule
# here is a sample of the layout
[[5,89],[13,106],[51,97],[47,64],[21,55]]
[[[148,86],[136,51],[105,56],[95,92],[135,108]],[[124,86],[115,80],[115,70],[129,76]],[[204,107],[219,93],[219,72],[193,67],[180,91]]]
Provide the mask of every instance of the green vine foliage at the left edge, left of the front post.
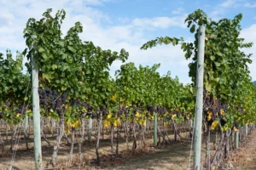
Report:
[[16,59],[9,50],[6,57],[0,54],[0,119],[15,124],[24,117],[26,108],[23,108],[23,104],[30,96],[27,93],[29,76],[22,73],[22,61],[23,55],[19,52]]

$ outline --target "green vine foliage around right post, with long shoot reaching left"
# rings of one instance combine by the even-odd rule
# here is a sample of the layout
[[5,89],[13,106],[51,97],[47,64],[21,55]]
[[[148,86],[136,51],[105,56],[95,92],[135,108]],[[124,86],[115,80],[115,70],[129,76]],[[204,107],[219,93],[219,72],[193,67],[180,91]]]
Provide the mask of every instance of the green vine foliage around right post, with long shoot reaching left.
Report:
[[[192,62],[189,64],[189,77],[191,77],[195,85],[198,53],[197,28],[204,25],[206,27],[204,88],[207,91],[205,98],[218,99],[218,102],[229,105],[229,110],[227,111],[228,115],[230,114],[228,117],[229,122],[234,122],[236,117],[235,119],[232,117],[241,114],[238,108],[243,108],[244,106],[244,87],[252,84],[247,66],[247,64],[252,63],[252,60],[249,59],[252,54],[245,54],[241,49],[251,48],[253,43],[245,43],[244,38],[239,37],[241,18],[242,15],[237,14],[233,20],[222,19],[214,21],[208,18],[207,14],[201,9],[198,9],[185,19],[189,31],[195,34],[195,42],[184,42],[183,38],[178,39],[176,37],[158,37],[142,46],[142,49],[147,49],[162,43],[180,44],[183,52],[185,52],[185,58],[192,58]],[[247,89],[254,90],[252,88]],[[221,108],[219,107],[217,110],[218,114],[220,114]],[[206,116],[209,116],[207,112]]]

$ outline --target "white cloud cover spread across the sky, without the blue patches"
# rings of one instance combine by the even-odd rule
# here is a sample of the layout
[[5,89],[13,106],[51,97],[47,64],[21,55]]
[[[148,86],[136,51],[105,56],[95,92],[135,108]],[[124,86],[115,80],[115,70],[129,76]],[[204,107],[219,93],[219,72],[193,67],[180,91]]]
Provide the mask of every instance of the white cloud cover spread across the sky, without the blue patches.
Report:
[[[184,59],[184,54],[179,46],[172,47],[171,45],[163,45],[148,50],[140,50],[143,43],[148,41],[145,31],[166,29],[173,26],[183,28],[185,27],[183,20],[187,16],[186,14],[178,14],[174,17],[135,18],[133,20],[126,18],[125,22],[119,23],[119,25],[107,27],[102,23],[108,22],[108,24],[113,25],[112,18],[108,14],[104,14],[102,11],[91,7],[91,5],[104,5],[106,2],[106,0],[0,0],[0,10],[3,11],[0,15],[0,50],[5,50],[6,48],[12,48],[13,52],[16,49],[20,51],[23,50],[26,48],[26,43],[23,39],[22,32],[26,26],[26,21],[30,17],[34,17],[37,20],[40,19],[46,8],[53,8],[54,11],[52,14],[55,14],[57,9],[64,8],[67,12],[67,17],[62,26],[64,34],[66,34],[68,28],[73,26],[76,21],[80,21],[84,26],[84,31],[80,34],[80,37],[84,41],[92,41],[104,49],[109,48],[119,51],[121,48],[125,48],[130,54],[127,62],[135,62],[136,65],[154,65],[161,63],[159,70],[161,74],[172,71],[172,77],[178,76],[181,82],[190,81],[188,77],[189,61]],[[181,8],[179,10],[181,10]],[[218,16],[222,13],[223,10],[221,9],[212,13],[212,15],[215,14]],[[241,37],[246,37],[246,40],[249,42],[255,42],[256,37],[254,30],[256,30],[256,26],[242,30]],[[194,40],[192,39],[191,41]],[[252,49],[248,49],[247,53],[254,51],[256,51],[256,49],[253,46]],[[256,60],[254,55],[253,59]],[[113,72],[119,69],[120,65],[120,62],[113,63],[111,69],[112,76]],[[255,64],[250,65],[253,80],[256,79],[255,69]]]

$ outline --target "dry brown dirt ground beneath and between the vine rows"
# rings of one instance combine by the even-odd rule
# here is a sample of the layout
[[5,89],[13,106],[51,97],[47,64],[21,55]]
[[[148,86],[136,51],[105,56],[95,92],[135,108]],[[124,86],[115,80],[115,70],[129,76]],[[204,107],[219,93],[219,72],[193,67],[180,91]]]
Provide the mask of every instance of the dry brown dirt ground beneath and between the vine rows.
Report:
[[[169,137],[172,139],[171,144],[163,145],[159,148],[154,149],[150,147],[153,144],[153,139],[147,139],[148,147],[147,150],[131,150],[132,139],[130,139],[130,150],[126,151],[125,139],[122,139],[119,143],[119,157],[110,160],[110,139],[108,136],[105,139],[101,139],[100,142],[100,156],[101,164],[97,166],[95,163],[95,142],[84,143],[83,145],[83,156],[84,156],[84,167],[71,167],[63,168],[67,166],[67,159],[69,155],[69,146],[66,144],[66,140],[62,140],[61,148],[57,157],[57,167],[59,169],[147,169],[147,170],[158,170],[158,169],[173,169],[173,170],[187,170],[189,166],[189,153],[191,147],[191,140],[188,139],[187,133],[183,133],[183,140],[173,141],[173,135]],[[43,147],[43,165],[45,167],[47,161],[49,161],[52,154],[52,147],[55,142],[55,138],[48,138],[51,146],[47,147],[47,143],[42,139]],[[206,139],[206,137],[204,137]],[[213,139],[213,138],[212,138]],[[20,141],[23,143],[23,141]],[[212,145],[212,140],[211,140]],[[32,148],[32,139],[29,144]],[[34,169],[33,161],[33,150],[25,150],[25,144],[19,147],[17,150],[13,169]],[[9,145],[6,146],[6,151],[0,156],[0,169],[9,169],[12,153],[8,150]],[[114,141],[114,152],[115,152],[115,141]],[[213,152],[212,152],[213,154]],[[205,156],[205,143],[202,143],[202,159]],[[192,164],[191,160],[191,164]],[[78,162],[78,145],[74,146],[73,164]],[[230,155],[229,160],[225,160],[227,168],[224,169],[250,169],[256,170],[256,130],[253,131],[252,135],[247,138],[247,143],[240,146],[236,151],[233,151]],[[190,164],[190,165],[191,165]],[[62,168],[61,168],[62,167]],[[51,169],[49,167],[49,169]]]

